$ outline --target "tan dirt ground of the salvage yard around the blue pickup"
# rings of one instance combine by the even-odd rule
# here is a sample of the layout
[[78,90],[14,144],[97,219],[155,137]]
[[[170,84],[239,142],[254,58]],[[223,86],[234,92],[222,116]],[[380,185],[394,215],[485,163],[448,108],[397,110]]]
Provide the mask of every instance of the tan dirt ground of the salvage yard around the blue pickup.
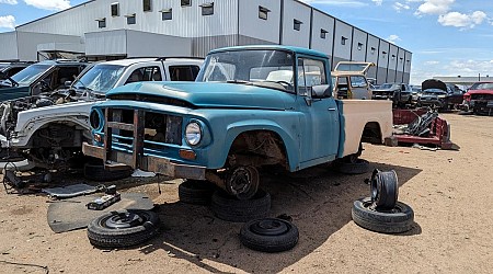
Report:
[[242,224],[180,203],[176,180],[161,184],[162,194],[142,180],[125,189],[153,198],[161,233],[111,251],[93,248],[85,229],[53,232],[48,197],[2,191],[0,273],[491,273],[493,117],[442,116],[459,151],[364,146],[371,168],[399,175],[399,199],[415,213],[415,226],[404,235],[376,233],[352,221],[353,201],[369,196],[364,179],[370,173],[343,175],[324,167],[264,176],[270,215],[291,216],[300,231],[295,249],[274,254],[242,247]]

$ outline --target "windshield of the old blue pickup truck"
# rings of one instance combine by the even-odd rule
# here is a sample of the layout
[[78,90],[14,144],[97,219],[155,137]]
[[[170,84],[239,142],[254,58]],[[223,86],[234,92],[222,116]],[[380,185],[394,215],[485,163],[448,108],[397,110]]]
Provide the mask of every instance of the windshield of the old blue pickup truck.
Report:
[[295,91],[294,56],[282,50],[249,49],[209,54],[198,82],[252,84]]

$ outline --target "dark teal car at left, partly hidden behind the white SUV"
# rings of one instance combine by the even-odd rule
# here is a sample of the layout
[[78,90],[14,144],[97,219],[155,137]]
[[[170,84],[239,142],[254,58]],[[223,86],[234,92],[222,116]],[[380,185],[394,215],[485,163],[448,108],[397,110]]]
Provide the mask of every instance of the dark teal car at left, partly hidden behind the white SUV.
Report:
[[66,81],[73,81],[88,65],[79,60],[46,60],[33,64],[0,81],[0,102],[67,88]]

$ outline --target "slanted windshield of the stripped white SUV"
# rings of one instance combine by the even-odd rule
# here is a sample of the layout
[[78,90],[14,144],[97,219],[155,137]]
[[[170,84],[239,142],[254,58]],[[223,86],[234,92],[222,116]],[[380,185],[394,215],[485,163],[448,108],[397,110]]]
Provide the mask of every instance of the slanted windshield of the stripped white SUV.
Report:
[[123,66],[94,65],[73,83],[72,88],[105,93],[115,85],[124,70]]

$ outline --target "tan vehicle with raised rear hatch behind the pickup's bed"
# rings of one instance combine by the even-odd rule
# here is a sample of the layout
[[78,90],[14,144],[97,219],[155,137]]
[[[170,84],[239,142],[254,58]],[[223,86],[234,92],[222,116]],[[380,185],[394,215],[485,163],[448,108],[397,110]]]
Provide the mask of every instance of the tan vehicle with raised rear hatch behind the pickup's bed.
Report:
[[366,71],[372,62],[340,61],[332,71],[334,94],[339,99],[371,99]]

